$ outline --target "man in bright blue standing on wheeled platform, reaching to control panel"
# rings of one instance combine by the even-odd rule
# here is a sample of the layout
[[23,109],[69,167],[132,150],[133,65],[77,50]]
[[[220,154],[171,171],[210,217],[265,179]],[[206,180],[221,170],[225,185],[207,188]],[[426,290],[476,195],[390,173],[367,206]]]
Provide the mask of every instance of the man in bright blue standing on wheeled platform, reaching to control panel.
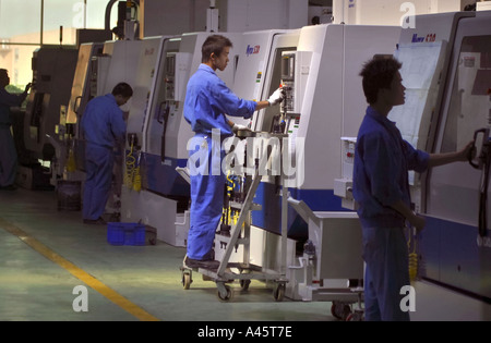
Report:
[[[184,100],[184,118],[195,136],[189,151],[193,156],[206,156],[207,163],[191,163],[191,222],[188,234],[188,254],[184,264],[194,268],[213,267],[212,253],[215,231],[221,217],[225,175],[221,171],[223,139],[233,135],[239,125],[225,114],[251,118],[254,111],[279,103],[284,98],[280,88],[265,101],[251,101],[237,97],[216,75],[229,61],[231,41],[221,35],[212,35],[202,46],[202,64],[188,83]],[[212,131],[219,142],[212,142]],[[194,148],[193,148],[194,147]],[[188,163],[190,164],[190,163]]]

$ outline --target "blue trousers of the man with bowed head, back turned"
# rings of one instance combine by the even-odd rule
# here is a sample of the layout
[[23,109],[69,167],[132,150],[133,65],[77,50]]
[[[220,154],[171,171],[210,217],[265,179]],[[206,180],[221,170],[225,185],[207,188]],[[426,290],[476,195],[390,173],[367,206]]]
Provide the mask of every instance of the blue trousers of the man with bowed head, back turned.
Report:
[[83,219],[96,220],[104,215],[111,189],[113,164],[112,149],[86,144]]

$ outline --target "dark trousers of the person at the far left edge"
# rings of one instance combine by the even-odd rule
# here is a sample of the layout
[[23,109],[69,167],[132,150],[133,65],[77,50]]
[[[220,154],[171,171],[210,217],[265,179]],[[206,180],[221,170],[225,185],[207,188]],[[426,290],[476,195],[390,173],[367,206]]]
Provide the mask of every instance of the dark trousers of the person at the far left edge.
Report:
[[0,186],[9,186],[15,182],[17,172],[17,151],[10,132],[10,126],[0,125]]

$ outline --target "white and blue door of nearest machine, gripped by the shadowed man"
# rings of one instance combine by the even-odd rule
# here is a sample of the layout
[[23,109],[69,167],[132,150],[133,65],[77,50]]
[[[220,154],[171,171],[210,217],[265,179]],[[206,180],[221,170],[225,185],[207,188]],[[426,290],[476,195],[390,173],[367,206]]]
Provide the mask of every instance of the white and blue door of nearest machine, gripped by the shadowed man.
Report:
[[[490,32],[489,16],[460,21],[435,152],[460,149],[476,130],[490,127]],[[421,249],[428,279],[490,301],[491,234],[489,226],[483,236],[478,232],[481,176],[467,162],[432,169]]]

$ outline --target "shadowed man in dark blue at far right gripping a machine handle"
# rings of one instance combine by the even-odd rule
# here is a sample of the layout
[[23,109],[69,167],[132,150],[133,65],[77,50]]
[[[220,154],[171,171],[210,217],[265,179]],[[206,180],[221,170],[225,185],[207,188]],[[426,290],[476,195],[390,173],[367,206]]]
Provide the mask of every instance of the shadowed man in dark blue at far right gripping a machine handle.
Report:
[[[427,154],[403,139],[387,119],[393,107],[405,103],[405,90],[395,59],[364,64],[363,91],[370,106],[358,132],[354,167],[354,197],[362,228],[366,320],[410,319],[400,303],[410,285],[406,221],[418,231],[424,219],[410,209],[408,171],[466,161],[474,143],[462,150]],[[403,294],[402,294],[403,293]],[[405,308],[405,307],[404,307]]]

